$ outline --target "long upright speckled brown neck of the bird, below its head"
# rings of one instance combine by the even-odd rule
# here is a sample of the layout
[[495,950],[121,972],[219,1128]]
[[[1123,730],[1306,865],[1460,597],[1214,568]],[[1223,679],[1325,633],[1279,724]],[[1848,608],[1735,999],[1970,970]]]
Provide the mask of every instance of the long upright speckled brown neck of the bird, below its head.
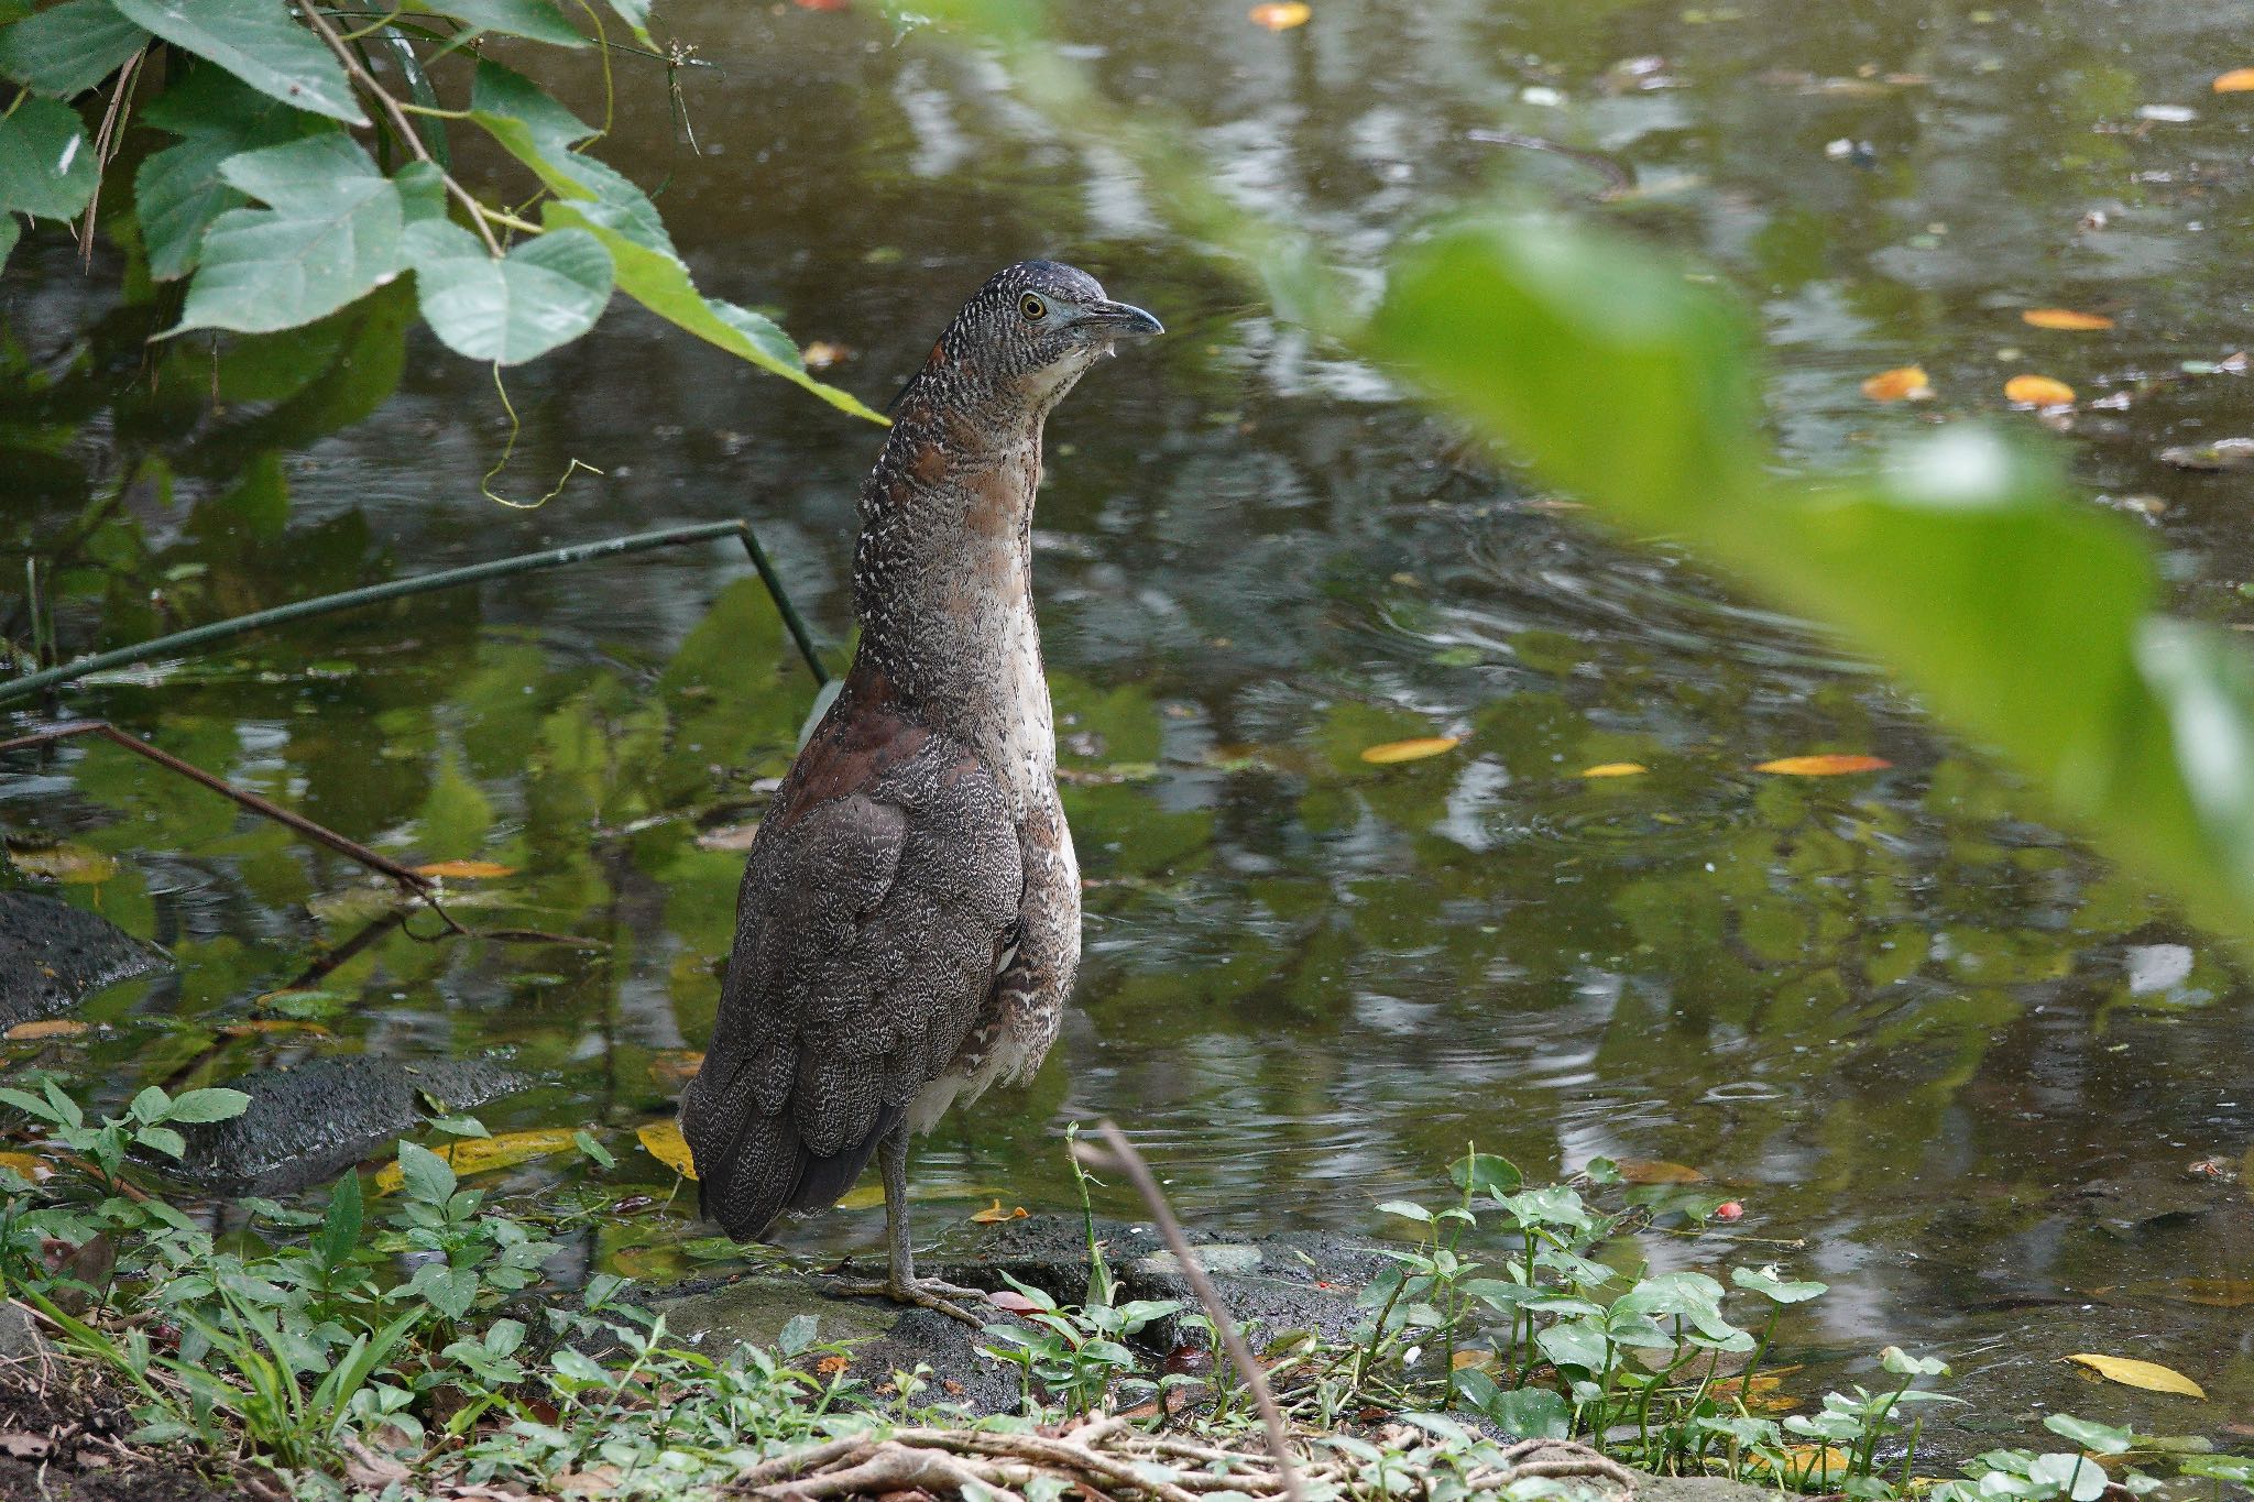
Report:
[[857,671],[980,750],[1023,811],[1053,788],[1057,745],[1032,613],[1041,414],[967,414],[911,387],[861,486]]

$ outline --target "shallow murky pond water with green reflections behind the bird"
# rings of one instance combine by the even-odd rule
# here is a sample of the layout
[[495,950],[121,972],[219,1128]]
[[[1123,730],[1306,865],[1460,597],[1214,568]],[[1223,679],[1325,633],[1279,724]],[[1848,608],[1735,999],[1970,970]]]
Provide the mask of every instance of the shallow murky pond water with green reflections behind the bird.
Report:
[[[1136,1133],[1186,1218],[1237,1230],[1384,1234],[1375,1203],[1431,1193],[1467,1142],[1533,1175],[1672,1162],[1704,1175],[1684,1196],[1745,1218],[1654,1232],[1641,1254],[1828,1279],[1787,1331],[1810,1387],[1869,1380],[1898,1342],[1954,1360],[1979,1398],[1950,1419],[1956,1448],[2020,1437],[2042,1407],[2254,1437],[2254,998],[2216,941],[1833,644],[1663,545],[1598,536],[1276,324],[987,63],[859,11],[699,0],[669,23],[715,63],[681,74],[696,149],[663,74],[629,70],[606,155],[665,178],[708,290],[838,347],[829,378],[881,403],[978,279],[1035,252],[1172,331],[1050,423],[1041,622],[1086,964],[1035,1085],[922,1148],[922,1232],[974,1234],[994,1198],[1068,1207],[1059,1133],[1095,1117]],[[2200,365],[2254,338],[2254,97],[2207,92],[2249,61],[2249,23],[2225,0],[1325,0],[1271,36],[1237,5],[1168,0],[1071,7],[1062,32],[1113,97],[1179,115],[1235,191],[1348,259],[1506,182],[1700,254],[1760,311],[1792,459],[1970,414],[2033,423],[2002,399],[2020,372],[2123,394],[2062,439],[2089,504],[2150,538],[2180,608],[2254,622],[2236,590],[2254,489],[2155,457],[2254,430],[2245,378]],[[1474,128],[1600,151],[1634,187],[1598,203],[1603,173]],[[11,381],[79,372],[72,401],[11,392],[0,412],[11,531],[52,545],[88,475],[162,464],[61,574],[65,644],[748,516],[843,660],[875,428],[618,311],[512,374],[523,437],[496,486],[539,495],[568,459],[602,473],[503,509],[476,484],[507,437],[487,374],[424,336],[394,374],[392,311],[336,333],[345,354],[311,387],[275,356],[162,367],[151,396],[144,313],[110,304],[115,279],[72,281],[70,259],[32,243],[5,284]],[[2029,306],[2117,327],[2040,331]],[[1860,394],[1909,363],[1936,401]],[[32,437],[59,428],[77,437]],[[710,1027],[730,831],[809,703],[719,545],[79,687],[70,714],[358,840],[512,867],[464,883],[467,923],[606,948],[379,928],[311,995],[261,1004],[367,928],[361,876],[113,750],[68,750],[11,763],[0,820],[18,844],[115,860],[59,889],[180,968],[9,1063],[124,1094],[329,1052],[500,1056],[541,1088],[489,1126],[600,1124],[609,1178],[658,1184],[631,1128],[667,1110],[678,1052]],[[1461,745],[1359,759],[1425,734]],[[1751,770],[1803,752],[1891,768]],[[1580,775],[1618,761],[1650,772]],[[277,1011],[329,1036],[219,1031]],[[498,1182],[543,1193],[570,1173]],[[850,1205],[789,1243],[870,1245],[875,1196]],[[703,1234],[660,1203],[588,1232],[588,1254],[676,1272]],[[2058,1365],[2071,1351],[2164,1360],[2209,1401],[2096,1387]]]

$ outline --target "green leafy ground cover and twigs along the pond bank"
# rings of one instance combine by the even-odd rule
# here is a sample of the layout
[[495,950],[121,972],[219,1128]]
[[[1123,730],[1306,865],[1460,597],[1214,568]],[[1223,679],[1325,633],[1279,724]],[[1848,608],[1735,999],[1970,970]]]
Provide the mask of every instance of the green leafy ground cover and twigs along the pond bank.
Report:
[[[850,1349],[814,1317],[773,1349],[712,1351],[672,1338],[627,1279],[557,1288],[557,1212],[464,1187],[449,1162],[444,1139],[480,1130],[469,1119],[442,1121],[440,1148],[401,1142],[379,1175],[347,1173],[318,1205],[183,1207],[162,1166],[183,1128],[239,1112],[239,1092],[149,1088],[101,1119],[52,1079],[0,1101],[29,1124],[27,1151],[0,1157],[0,1279],[45,1331],[7,1376],[18,1457],[99,1439],[113,1468],[295,1497],[1283,1495],[1244,1385],[1226,1362],[1179,1358],[1210,1349],[1213,1326],[1116,1302],[1093,1221],[1080,1302],[996,1295],[983,1353],[1023,1374],[1026,1401],[974,1419],[944,1374],[850,1374]],[[606,1155],[588,1133],[577,1151]],[[1537,1495],[1618,1466],[1943,1502],[2094,1502],[2153,1491],[2164,1470],[2216,1495],[2254,1479],[2254,1459],[2200,1439],[2065,1414],[2047,1419],[2056,1450],[1923,1475],[1918,1412],[1952,1401],[1929,1387],[1938,1360],[1889,1349],[1878,1387],[1794,1412],[1774,1320],[1823,1284],[1605,1261],[1623,1230],[1666,1214],[1612,1164],[1530,1187],[1467,1153],[1452,1180],[1438,1209],[1386,1207],[1416,1234],[1384,1250],[1393,1266],[1359,1293],[1350,1338],[1251,1331],[1310,1497]],[[1150,1342],[1161,1326],[1172,1338]],[[77,1428],[38,1432],[56,1412]]]

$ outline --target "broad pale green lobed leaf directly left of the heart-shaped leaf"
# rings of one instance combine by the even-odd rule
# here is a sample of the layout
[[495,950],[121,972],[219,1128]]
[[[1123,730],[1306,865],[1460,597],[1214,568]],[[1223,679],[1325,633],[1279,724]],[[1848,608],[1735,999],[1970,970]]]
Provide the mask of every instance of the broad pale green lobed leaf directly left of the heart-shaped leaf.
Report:
[[331,133],[246,151],[219,173],[270,207],[228,209],[205,232],[174,333],[293,329],[399,275],[399,189],[352,140]]

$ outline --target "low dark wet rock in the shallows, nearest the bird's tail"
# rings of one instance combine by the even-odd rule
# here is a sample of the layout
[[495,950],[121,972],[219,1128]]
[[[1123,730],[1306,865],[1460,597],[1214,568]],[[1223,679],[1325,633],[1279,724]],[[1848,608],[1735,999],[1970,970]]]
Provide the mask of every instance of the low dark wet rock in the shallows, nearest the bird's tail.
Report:
[[473,1058],[354,1056],[257,1070],[225,1083],[250,1094],[250,1108],[232,1121],[189,1128],[183,1169],[225,1193],[289,1193],[322,1184],[415,1130],[428,1115],[426,1094],[467,1110],[532,1081]]

